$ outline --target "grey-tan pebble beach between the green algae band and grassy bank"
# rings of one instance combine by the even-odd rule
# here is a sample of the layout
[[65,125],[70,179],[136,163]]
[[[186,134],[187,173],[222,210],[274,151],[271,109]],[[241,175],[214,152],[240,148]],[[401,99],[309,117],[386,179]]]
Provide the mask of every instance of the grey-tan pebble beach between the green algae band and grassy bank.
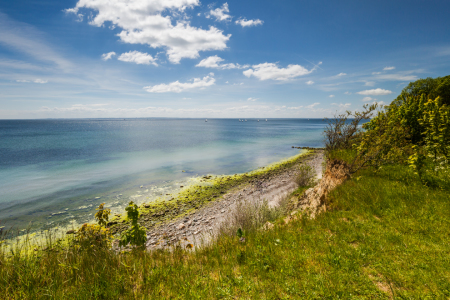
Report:
[[[236,209],[239,202],[266,199],[269,206],[277,206],[297,188],[295,178],[298,175],[299,165],[309,165],[320,179],[323,159],[323,151],[315,150],[311,155],[299,159],[295,164],[272,176],[261,176],[241,184],[205,206],[186,213],[181,218],[162,222],[148,229],[146,245],[149,250],[205,245],[218,234],[219,228],[223,226],[227,216]],[[151,219],[151,216],[148,219]]]

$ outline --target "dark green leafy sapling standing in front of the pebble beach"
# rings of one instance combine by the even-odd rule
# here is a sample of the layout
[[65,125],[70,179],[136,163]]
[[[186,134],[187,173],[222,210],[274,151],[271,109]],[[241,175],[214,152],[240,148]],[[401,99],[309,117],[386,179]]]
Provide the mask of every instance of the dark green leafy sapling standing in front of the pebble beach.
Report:
[[146,230],[144,227],[140,226],[139,220],[139,208],[136,204],[131,201],[127,208],[127,217],[131,221],[131,227],[122,233],[121,240],[119,242],[120,246],[127,246],[128,244],[132,246],[144,246],[147,240]]

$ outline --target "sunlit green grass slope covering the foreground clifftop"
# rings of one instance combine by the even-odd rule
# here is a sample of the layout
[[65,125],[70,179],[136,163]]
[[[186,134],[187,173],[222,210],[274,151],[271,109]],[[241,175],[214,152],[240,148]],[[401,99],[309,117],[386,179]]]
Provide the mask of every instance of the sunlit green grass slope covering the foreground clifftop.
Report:
[[365,170],[315,220],[279,220],[244,243],[222,236],[195,252],[4,253],[0,298],[448,299],[449,198],[406,167]]

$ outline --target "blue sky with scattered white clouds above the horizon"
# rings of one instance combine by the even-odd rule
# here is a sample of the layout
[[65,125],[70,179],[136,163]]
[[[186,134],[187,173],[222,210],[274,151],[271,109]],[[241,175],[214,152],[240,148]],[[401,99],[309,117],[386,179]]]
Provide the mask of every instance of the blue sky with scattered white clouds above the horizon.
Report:
[[0,2],[0,119],[323,118],[450,73],[450,1]]

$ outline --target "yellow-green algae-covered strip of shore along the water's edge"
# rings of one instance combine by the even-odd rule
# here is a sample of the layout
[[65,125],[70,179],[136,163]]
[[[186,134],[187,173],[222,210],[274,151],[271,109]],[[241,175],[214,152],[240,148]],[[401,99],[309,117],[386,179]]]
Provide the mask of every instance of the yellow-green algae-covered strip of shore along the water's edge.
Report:
[[[147,235],[149,237],[147,243],[151,241],[151,235],[155,230],[166,228],[169,224],[186,216],[197,216],[198,214],[202,214],[205,209],[208,210],[211,207],[223,205],[223,203],[225,203],[223,201],[227,200],[229,195],[236,192],[238,193],[239,191],[242,192],[242,190],[245,190],[245,186],[252,184],[252,181],[262,180],[263,182],[266,182],[267,180],[270,180],[271,177],[280,175],[279,173],[284,174],[286,170],[321,152],[323,152],[321,149],[303,149],[303,151],[297,155],[241,174],[191,177],[185,180],[185,183],[191,183],[191,185],[185,187],[180,186],[181,190],[178,190],[178,192],[171,192],[171,194],[158,196],[149,203],[139,201],[139,224],[144,226],[147,230]],[[292,186],[290,188],[292,189]],[[94,208],[95,207],[92,207],[92,209]],[[94,213],[95,212],[92,213],[90,221],[88,221],[89,224],[95,222]],[[211,212],[208,214],[210,213]],[[121,213],[117,213],[116,211],[112,216],[113,217],[110,219],[107,227],[110,228],[111,232],[117,237],[123,230],[128,228],[129,222],[126,220],[125,212],[123,210]],[[52,228],[35,230],[32,232],[22,230],[21,232],[23,232],[23,234],[20,234],[15,238],[25,240],[28,239],[28,236],[31,234],[33,240],[31,243],[39,244],[45,239],[46,232],[53,232],[54,235],[61,236],[64,239],[64,236],[68,233],[73,233],[81,227],[81,225],[82,223],[70,222],[66,226],[57,224]],[[201,231],[205,233],[207,230],[202,229]],[[198,236],[200,237],[200,235]]]

